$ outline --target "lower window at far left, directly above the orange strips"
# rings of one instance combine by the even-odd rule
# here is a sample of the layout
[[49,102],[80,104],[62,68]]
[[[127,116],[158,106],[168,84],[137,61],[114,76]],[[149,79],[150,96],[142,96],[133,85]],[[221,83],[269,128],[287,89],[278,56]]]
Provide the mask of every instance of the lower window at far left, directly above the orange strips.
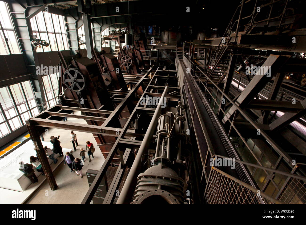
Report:
[[39,114],[30,81],[0,88],[0,103],[0,137],[25,125],[28,118]]

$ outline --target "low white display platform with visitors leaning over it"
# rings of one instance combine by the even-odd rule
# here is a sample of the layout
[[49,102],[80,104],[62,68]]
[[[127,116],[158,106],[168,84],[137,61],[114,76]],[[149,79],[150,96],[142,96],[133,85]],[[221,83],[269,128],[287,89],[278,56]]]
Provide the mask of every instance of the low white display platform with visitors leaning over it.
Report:
[[[42,141],[43,146],[47,146],[48,148],[53,149],[53,144],[50,142]],[[72,149],[63,148],[63,152],[71,152]],[[30,156],[36,157],[36,151],[34,150],[34,144],[31,140],[26,142],[25,144],[18,147],[8,156],[4,157],[0,160],[0,187],[24,192],[32,182],[24,176],[24,173],[19,170],[20,165],[19,162],[23,161],[24,163],[30,163]],[[59,157],[58,154],[55,154],[55,158],[59,158],[63,160],[63,157]],[[56,168],[56,166],[61,163],[62,160],[58,160],[58,163],[51,167],[52,170]],[[53,160],[48,159],[50,164],[54,164]],[[36,176],[39,176],[39,183],[41,180],[45,180],[45,176],[41,175],[41,172],[36,171],[35,167],[33,167]],[[42,179],[43,178],[43,179]],[[39,186],[39,183],[33,184],[34,186]],[[37,188],[36,187],[36,188]],[[35,189],[36,189],[35,188]]]

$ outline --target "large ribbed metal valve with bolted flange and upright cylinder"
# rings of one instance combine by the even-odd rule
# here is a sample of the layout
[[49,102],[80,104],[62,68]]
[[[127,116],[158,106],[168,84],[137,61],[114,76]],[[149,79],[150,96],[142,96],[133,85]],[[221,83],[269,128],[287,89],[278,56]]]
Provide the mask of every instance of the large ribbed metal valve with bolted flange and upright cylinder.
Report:
[[186,182],[182,172],[185,166],[181,156],[178,156],[181,154],[181,127],[174,128],[176,123],[182,126],[185,120],[183,109],[179,102],[177,117],[172,112],[159,117],[155,158],[152,159],[152,166],[138,175],[133,204],[184,204]]

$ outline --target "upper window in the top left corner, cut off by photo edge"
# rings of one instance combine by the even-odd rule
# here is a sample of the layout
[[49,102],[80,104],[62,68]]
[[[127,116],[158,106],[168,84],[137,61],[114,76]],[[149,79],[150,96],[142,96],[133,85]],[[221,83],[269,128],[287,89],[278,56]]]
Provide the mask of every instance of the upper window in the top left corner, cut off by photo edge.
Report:
[[0,1],[0,55],[20,54],[20,47],[6,2]]

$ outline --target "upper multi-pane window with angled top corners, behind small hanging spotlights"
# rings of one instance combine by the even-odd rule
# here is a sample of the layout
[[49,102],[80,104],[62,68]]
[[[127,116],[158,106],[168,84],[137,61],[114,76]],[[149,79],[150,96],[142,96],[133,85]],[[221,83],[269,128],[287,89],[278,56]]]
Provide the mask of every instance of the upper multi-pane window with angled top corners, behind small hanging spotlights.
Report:
[[69,50],[65,18],[61,15],[41,11],[30,19],[33,35],[50,45],[36,52]]

